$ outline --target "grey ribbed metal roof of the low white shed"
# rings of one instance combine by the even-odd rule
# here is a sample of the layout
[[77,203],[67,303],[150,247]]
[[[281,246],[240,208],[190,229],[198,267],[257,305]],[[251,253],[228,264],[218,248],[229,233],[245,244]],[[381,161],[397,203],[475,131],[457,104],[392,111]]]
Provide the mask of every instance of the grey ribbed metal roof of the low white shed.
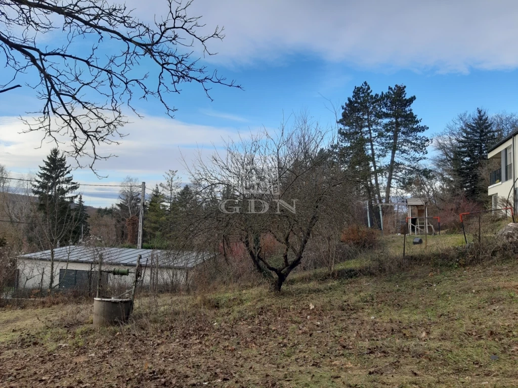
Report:
[[[204,261],[207,255],[196,252],[170,251],[160,249],[106,248],[69,245],[54,249],[55,261],[91,263],[103,254],[106,264],[136,265],[137,257],[141,255],[141,263],[151,263],[151,258],[159,259],[162,267],[192,268]],[[24,259],[50,260],[50,249],[40,252],[27,253],[19,256]]]

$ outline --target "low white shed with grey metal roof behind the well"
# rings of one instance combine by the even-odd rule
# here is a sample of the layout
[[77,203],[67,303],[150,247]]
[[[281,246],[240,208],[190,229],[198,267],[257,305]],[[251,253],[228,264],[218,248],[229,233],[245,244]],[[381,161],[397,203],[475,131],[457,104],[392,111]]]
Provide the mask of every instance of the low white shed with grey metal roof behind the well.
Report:
[[[51,260],[50,250],[19,256],[17,289],[19,291],[48,289],[51,267],[53,267],[55,288],[92,291],[97,284],[99,258],[102,258],[103,285],[129,288],[135,279],[138,255],[141,255],[142,285],[152,287],[185,285],[190,281],[189,275],[193,268],[204,260],[202,255],[195,252],[64,246],[54,249],[53,260]],[[130,275],[114,275],[114,268],[129,270]]]

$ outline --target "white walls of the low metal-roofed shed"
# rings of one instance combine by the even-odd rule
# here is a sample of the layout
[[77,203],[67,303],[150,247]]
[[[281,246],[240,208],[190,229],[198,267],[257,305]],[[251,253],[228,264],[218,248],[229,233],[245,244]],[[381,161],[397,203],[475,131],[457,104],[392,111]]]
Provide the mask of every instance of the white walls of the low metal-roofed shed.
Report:
[[[49,260],[35,260],[35,259],[18,259],[18,288],[19,289],[39,289],[44,290],[50,286],[50,261]],[[130,270],[128,276],[118,276],[110,274],[108,276],[109,285],[121,286],[130,288],[135,279],[135,266],[132,265],[113,265],[105,263],[103,270],[109,271],[113,268],[127,268]],[[54,262],[54,285],[59,281],[61,269],[80,270],[80,271],[97,271],[97,265],[91,263],[80,262]],[[144,267],[142,267],[144,271]],[[133,272],[133,273],[132,273]],[[157,274],[157,275],[156,275]],[[189,281],[189,271],[183,268],[153,268],[148,267],[143,274],[143,285],[149,286],[151,284],[151,276],[157,278],[158,285],[184,285]],[[57,287],[56,287],[57,288]]]

